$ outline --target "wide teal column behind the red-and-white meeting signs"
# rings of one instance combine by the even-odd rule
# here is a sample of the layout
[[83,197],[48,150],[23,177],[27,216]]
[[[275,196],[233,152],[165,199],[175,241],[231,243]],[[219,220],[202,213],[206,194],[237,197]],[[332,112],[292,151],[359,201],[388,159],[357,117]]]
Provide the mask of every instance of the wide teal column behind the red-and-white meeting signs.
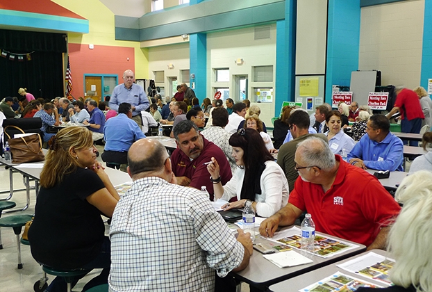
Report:
[[349,86],[358,70],[360,0],[329,0],[325,102],[331,104],[331,86]]

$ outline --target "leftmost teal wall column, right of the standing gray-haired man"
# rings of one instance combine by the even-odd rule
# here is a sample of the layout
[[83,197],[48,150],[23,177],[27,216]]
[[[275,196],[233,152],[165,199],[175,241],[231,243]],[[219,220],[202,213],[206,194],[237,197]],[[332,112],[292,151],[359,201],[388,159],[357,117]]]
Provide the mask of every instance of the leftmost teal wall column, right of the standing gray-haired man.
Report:
[[207,34],[189,35],[190,87],[199,102],[207,97]]

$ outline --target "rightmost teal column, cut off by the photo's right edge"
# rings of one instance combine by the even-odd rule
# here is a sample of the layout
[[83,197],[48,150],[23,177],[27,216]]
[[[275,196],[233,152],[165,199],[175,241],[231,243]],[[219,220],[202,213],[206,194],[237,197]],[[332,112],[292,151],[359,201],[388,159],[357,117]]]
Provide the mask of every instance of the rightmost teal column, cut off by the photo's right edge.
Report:
[[420,86],[428,90],[428,79],[432,79],[432,2],[424,1],[422,72]]

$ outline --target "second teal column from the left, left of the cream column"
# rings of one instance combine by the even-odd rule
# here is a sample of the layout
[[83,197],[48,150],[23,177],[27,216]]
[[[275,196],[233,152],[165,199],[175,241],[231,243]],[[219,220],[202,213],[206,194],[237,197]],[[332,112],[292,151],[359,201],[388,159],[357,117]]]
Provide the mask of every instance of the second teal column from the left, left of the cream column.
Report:
[[281,112],[282,102],[294,101],[296,30],[297,0],[285,0],[285,20],[276,22],[276,116]]

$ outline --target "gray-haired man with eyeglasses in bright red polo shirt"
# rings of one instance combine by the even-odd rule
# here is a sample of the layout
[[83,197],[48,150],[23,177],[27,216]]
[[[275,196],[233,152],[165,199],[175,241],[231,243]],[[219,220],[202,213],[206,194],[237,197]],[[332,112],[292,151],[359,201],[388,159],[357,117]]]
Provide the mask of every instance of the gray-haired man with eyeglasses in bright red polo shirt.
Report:
[[333,154],[319,138],[299,143],[294,156],[299,173],[288,204],[263,221],[260,234],[272,237],[307,210],[317,232],[355,241],[367,250],[383,249],[400,206],[376,177]]

